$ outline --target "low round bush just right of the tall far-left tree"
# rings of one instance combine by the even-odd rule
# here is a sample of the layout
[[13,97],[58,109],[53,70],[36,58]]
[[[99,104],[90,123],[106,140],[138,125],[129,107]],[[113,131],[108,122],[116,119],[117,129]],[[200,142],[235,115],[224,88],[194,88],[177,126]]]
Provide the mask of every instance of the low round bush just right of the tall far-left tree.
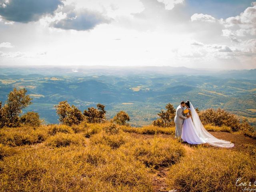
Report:
[[23,125],[35,127],[38,127],[42,124],[42,120],[40,120],[39,114],[37,112],[26,112],[20,117],[20,122]]

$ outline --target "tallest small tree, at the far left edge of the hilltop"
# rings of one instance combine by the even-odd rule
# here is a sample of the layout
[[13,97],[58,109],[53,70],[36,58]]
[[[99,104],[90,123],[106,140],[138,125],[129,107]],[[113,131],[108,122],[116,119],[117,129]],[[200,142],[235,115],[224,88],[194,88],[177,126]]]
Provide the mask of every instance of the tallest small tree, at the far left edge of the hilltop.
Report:
[[8,94],[8,99],[3,107],[1,103],[1,127],[17,127],[20,125],[19,115],[22,113],[22,109],[32,104],[32,98],[26,95],[26,92],[27,90],[25,88],[19,90],[14,88],[13,91]]

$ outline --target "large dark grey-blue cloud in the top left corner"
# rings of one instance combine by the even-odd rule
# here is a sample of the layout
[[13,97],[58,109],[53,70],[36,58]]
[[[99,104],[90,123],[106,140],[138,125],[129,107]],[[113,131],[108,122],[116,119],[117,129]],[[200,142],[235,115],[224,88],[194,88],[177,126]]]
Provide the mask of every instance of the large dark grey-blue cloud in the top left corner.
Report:
[[9,21],[28,23],[53,14],[62,4],[61,0],[0,0],[0,15]]

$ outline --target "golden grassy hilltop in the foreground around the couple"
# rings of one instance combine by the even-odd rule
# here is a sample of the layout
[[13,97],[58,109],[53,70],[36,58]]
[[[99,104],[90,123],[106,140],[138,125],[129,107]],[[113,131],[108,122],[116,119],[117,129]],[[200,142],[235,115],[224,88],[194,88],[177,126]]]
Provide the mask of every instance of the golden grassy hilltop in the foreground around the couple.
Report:
[[[240,191],[254,181],[256,140],[206,126],[234,148],[190,145],[174,127],[112,123],[0,129],[0,191]],[[220,133],[220,134],[219,134]]]

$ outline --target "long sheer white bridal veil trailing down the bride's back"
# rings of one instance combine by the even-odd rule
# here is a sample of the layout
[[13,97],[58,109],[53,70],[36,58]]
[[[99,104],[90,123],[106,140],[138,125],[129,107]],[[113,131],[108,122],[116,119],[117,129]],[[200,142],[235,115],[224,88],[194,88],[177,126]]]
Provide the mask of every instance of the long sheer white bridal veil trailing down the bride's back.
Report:
[[211,135],[208,131],[206,131],[194,106],[191,103],[190,103],[190,110],[191,110],[191,114],[192,114],[192,120],[193,120],[194,126],[196,128],[196,132],[198,133],[200,138],[202,138],[203,140],[205,140],[208,144],[210,144],[212,146],[225,147],[225,148],[234,147],[233,143],[231,143],[229,141],[218,139],[218,138],[214,137],[213,135]]

